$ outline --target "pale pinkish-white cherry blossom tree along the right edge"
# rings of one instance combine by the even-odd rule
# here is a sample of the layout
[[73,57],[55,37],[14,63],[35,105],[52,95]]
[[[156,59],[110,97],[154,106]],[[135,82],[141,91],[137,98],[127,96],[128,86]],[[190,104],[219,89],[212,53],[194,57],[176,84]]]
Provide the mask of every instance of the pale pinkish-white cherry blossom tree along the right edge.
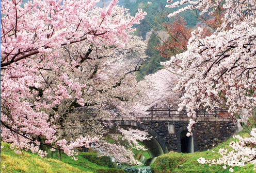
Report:
[[[168,1],[171,2],[171,1]],[[225,9],[221,24],[211,36],[202,37],[199,32],[192,32],[187,51],[172,56],[165,65],[180,66],[183,76],[175,89],[185,88],[185,94],[179,105],[186,106],[188,117],[196,118],[195,109],[208,111],[216,107],[226,108],[228,116],[236,118],[250,133],[250,138],[235,136],[239,141],[231,142],[234,149],[228,152],[220,149],[222,158],[205,160],[200,163],[222,165],[223,168],[256,164],[255,158],[255,1],[179,1],[167,7],[186,7],[169,14],[171,17],[185,10],[197,10],[199,15],[213,14],[219,6]],[[246,125],[246,121],[248,125]],[[191,120],[189,131],[195,121]]]

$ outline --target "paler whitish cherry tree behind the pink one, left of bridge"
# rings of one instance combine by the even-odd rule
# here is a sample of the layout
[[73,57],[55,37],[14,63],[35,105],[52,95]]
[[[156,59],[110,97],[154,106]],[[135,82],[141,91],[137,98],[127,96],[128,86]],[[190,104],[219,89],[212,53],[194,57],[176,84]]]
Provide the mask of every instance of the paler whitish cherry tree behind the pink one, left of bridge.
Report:
[[[63,48],[61,57],[65,61],[72,63],[77,58],[81,59],[81,56],[85,57],[84,62],[73,69],[58,67],[58,72],[66,72],[70,79],[79,79],[79,83],[86,85],[81,89],[85,108],[76,103],[74,95],[73,99],[63,100],[60,105],[51,109],[55,114],[59,113],[59,118],[55,119],[58,135],[72,139],[83,133],[101,134],[105,131],[106,119],[135,112],[134,104],[141,95],[146,94],[147,89],[138,84],[134,75],[145,57],[143,53],[146,46],[137,36],[127,40],[124,48],[93,45],[90,42]],[[49,83],[61,82],[55,75],[51,76],[51,73],[46,76],[50,76]],[[68,90],[72,93],[72,88]],[[76,107],[79,109],[75,109]],[[114,110],[109,110],[109,107],[115,109],[114,114]],[[86,111],[89,108],[94,110]]]

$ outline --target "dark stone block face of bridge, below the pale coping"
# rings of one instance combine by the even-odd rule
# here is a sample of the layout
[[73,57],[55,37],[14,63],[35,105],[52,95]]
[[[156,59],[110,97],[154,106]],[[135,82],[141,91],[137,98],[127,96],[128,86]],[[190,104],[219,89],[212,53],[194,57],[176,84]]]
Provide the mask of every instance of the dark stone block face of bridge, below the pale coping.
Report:
[[[152,128],[164,141],[168,151],[181,151],[180,135],[187,130],[188,121],[142,121]],[[174,125],[174,132],[168,130],[169,125]],[[204,151],[213,147],[218,142],[223,142],[235,134],[233,122],[208,121],[197,122],[194,126],[194,151]]]

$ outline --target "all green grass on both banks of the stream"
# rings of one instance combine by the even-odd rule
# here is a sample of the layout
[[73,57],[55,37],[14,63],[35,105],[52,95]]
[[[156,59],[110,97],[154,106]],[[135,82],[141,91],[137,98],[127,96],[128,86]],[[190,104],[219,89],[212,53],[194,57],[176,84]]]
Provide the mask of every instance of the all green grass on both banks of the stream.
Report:
[[[241,131],[239,134],[243,137],[249,135]],[[207,164],[199,164],[197,159],[203,157],[205,159],[217,159],[220,157],[217,152],[219,148],[228,148],[229,143],[234,141],[233,138],[226,142],[220,143],[217,147],[210,151],[195,152],[195,153],[177,153],[169,152],[159,156],[151,165],[154,173],[212,173],[212,172],[229,172],[228,169],[223,169],[222,166],[209,166]],[[4,148],[1,151],[1,172],[86,172],[86,173],[125,173],[122,169],[116,169],[115,164],[110,162],[108,157],[97,157],[97,153],[80,152],[78,160],[74,161],[71,157],[62,154],[62,161],[56,160],[56,155],[53,159],[40,158],[36,153],[23,151],[23,154],[17,154],[10,149],[10,144],[1,142]],[[215,152],[212,152],[215,151]],[[147,152],[135,151],[136,155],[147,155]],[[6,167],[2,167],[5,165]],[[182,168],[178,168],[183,165]],[[248,164],[245,167],[234,167],[234,172],[256,172],[253,170],[253,165]]]

